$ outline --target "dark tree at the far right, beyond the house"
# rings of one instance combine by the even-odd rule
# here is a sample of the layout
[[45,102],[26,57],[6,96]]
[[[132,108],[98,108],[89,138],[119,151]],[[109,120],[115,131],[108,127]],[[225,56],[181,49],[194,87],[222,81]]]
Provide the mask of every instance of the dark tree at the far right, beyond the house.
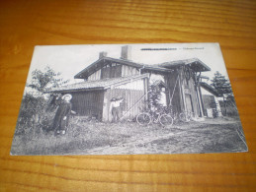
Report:
[[232,93],[229,80],[227,80],[225,76],[221,75],[218,71],[216,71],[216,73],[214,73],[214,77],[211,85],[223,97],[223,103],[224,103],[225,114],[226,114],[225,98],[227,99],[233,98],[233,93]]

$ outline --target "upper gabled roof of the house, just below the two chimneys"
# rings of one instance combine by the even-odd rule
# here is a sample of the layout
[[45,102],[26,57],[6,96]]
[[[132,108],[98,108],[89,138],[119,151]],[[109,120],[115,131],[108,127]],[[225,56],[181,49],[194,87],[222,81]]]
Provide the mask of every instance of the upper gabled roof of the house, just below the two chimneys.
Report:
[[163,68],[163,67],[160,67],[157,65],[147,65],[147,64],[143,64],[143,63],[135,63],[135,62],[129,61],[127,59],[122,59],[122,58],[116,59],[116,58],[112,58],[112,57],[102,57],[102,58],[98,59],[97,61],[95,61],[94,63],[92,63],[91,65],[89,65],[88,67],[86,67],[85,69],[83,69],[78,74],[76,74],[74,76],[74,78],[75,79],[86,79],[88,76],[93,74],[96,70],[100,69],[102,64],[106,61],[112,61],[112,62],[132,66],[132,67],[136,67],[136,68],[146,69],[146,70],[150,70],[150,71],[158,71],[158,72],[172,71],[170,69],[166,69],[166,68]]

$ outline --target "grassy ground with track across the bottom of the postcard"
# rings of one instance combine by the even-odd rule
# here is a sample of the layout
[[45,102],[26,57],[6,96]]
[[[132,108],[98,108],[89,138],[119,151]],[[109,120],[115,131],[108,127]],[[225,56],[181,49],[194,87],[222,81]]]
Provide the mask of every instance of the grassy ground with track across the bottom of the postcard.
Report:
[[[180,154],[247,151],[237,119],[218,118],[203,122],[178,123],[171,127],[158,124],[140,126],[135,122],[103,123],[70,120],[66,135],[54,136],[39,126],[27,127],[16,134],[13,155],[71,154]],[[23,125],[25,126],[25,125]],[[28,126],[28,125],[27,125]]]

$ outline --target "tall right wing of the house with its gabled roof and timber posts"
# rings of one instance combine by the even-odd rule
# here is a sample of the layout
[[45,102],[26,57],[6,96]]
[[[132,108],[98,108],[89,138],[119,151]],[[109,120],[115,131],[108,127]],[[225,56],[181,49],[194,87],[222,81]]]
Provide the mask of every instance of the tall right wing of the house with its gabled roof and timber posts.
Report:
[[166,62],[159,66],[173,70],[164,76],[168,105],[172,105],[178,113],[191,111],[195,117],[203,117],[200,77],[202,72],[211,71],[211,68],[197,58]]

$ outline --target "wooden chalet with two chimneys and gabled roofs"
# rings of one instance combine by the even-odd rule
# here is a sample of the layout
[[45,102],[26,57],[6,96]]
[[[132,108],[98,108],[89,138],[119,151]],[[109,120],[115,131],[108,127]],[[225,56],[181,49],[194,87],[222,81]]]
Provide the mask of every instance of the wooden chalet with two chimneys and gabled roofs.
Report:
[[204,116],[200,77],[210,71],[201,60],[194,58],[157,65],[135,63],[130,58],[130,46],[123,46],[121,58],[111,58],[101,52],[99,59],[74,76],[84,82],[55,88],[50,93],[71,94],[73,110],[80,115],[96,115],[110,121],[112,97],[124,97],[124,117],[133,118],[145,106],[151,75],[164,80],[166,103],[177,112],[192,111]]

